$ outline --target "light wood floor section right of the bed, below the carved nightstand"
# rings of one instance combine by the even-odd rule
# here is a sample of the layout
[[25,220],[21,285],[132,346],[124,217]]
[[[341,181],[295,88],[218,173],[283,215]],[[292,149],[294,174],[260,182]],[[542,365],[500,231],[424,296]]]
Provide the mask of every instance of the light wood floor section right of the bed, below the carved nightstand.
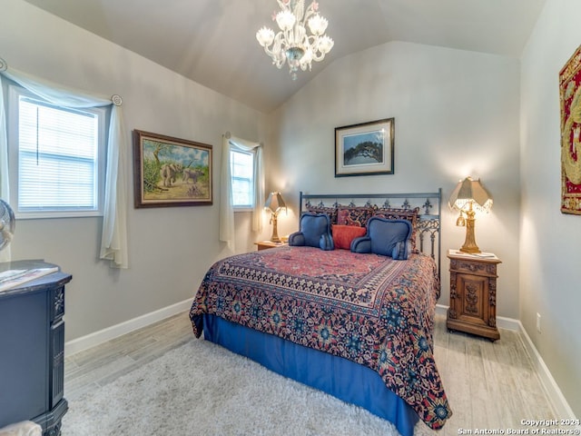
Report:
[[[500,340],[491,342],[448,332],[445,316],[436,320],[434,358],[454,412],[438,435],[530,431],[522,420],[556,419],[519,333],[500,329]],[[430,433],[423,428],[418,434]]]

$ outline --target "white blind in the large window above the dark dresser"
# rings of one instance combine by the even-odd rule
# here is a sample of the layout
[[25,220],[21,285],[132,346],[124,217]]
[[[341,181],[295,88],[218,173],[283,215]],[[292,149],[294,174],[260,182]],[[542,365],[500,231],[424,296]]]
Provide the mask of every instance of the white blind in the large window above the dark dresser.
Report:
[[19,97],[18,210],[98,209],[98,116]]

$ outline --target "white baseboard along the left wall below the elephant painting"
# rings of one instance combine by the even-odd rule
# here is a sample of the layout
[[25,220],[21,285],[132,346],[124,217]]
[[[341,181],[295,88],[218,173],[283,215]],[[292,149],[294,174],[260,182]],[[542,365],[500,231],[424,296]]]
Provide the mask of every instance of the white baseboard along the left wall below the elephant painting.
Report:
[[65,342],[64,355],[69,356],[76,352],[82,352],[83,350],[94,347],[95,345],[99,345],[100,343],[111,341],[123,334],[153,324],[153,322],[162,321],[178,313],[188,311],[190,306],[192,306],[192,299],[177,302],[157,311],[145,313],[142,316],[133,318],[133,320],[121,322],[100,330],[99,332],[90,333],[81,338],[74,339],[73,341]]

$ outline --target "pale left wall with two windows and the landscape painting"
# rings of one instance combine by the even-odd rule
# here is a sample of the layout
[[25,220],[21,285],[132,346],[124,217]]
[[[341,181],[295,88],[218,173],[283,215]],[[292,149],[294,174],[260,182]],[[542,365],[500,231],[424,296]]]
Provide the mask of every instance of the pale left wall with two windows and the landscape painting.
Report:
[[[130,269],[97,260],[101,219],[20,220],[13,259],[44,258],[73,274],[66,340],[192,298],[218,243],[222,134],[262,141],[262,114],[20,0],[3,2],[0,56],[9,67],[95,94],[120,94],[128,135]],[[133,209],[133,129],[213,146],[213,205]],[[241,243],[255,235],[239,216]]]

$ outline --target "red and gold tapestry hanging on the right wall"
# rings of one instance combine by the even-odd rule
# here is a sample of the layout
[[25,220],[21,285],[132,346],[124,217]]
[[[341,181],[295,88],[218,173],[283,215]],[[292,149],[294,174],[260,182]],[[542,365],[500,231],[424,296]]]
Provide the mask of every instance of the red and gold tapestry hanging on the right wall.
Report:
[[581,45],[559,73],[561,212],[581,214]]

